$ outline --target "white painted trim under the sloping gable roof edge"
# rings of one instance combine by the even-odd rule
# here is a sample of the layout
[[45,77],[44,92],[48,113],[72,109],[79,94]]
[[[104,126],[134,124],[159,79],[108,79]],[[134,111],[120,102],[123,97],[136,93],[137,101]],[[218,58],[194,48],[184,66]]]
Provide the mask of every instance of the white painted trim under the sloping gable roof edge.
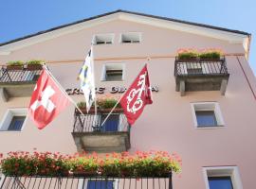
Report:
[[43,43],[47,40],[61,37],[65,34],[74,33],[84,28],[90,28],[93,26],[99,26],[116,20],[123,20],[134,22],[138,24],[144,24],[148,26],[156,26],[166,29],[174,29],[177,31],[188,32],[196,35],[202,35],[214,39],[228,41],[229,43],[241,43],[244,45],[247,51],[247,35],[232,33],[229,31],[222,31],[218,29],[208,28],[204,26],[192,26],[189,24],[177,23],[174,21],[167,21],[158,18],[151,18],[148,16],[135,15],[132,13],[117,12],[114,14],[106,15],[100,18],[96,18],[89,21],[84,21],[80,24],[73,26],[65,26],[53,31],[49,31],[40,35],[36,35],[18,42],[9,43],[4,46],[0,46],[0,55],[8,55],[11,51],[18,50],[35,43]]

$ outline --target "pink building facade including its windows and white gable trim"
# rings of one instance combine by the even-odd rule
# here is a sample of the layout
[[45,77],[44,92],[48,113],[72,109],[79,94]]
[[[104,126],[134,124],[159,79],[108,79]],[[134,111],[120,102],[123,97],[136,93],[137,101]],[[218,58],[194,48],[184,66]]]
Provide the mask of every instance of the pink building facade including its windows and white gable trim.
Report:
[[[122,87],[129,87],[148,62],[155,88],[154,103],[145,108],[131,128],[130,144],[124,150],[177,152],[183,165],[181,177],[174,175],[174,188],[210,188],[214,178],[230,181],[235,189],[255,188],[256,82],[247,62],[249,34],[119,10],[3,43],[0,62],[4,65],[9,60],[45,60],[50,72],[79,102],[83,95],[74,93],[74,89],[80,88],[77,75],[92,41],[99,98],[114,92],[119,96]],[[184,77],[177,82],[175,55],[180,48],[222,49],[227,75],[210,77],[208,81],[198,78],[194,82],[199,85],[195,87]],[[186,76],[196,75],[190,69],[197,69],[195,73],[199,69],[202,75],[212,74],[207,64],[195,67],[187,64],[182,68]],[[119,73],[115,75],[113,70]],[[213,75],[218,71],[221,70],[215,70]],[[203,81],[207,82],[206,88],[200,88]],[[212,84],[214,81],[219,84]],[[14,91],[21,90],[20,94],[5,83],[0,85],[0,152],[32,151],[35,147],[62,153],[80,150],[81,144],[72,134],[73,105],[46,129],[37,129],[26,117],[19,129],[9,130],[13,117],[27,115],[31,92],[26,93],[29,87],[24,87],[25,84],[18,85]],[[212,90],[208,88],[210,85]],[[99,142],[105,136],[97,137],[95,141]],[[108,140],[111,143],[115,139]],[[101,144],[101,147],[103,151],[109,146]]]

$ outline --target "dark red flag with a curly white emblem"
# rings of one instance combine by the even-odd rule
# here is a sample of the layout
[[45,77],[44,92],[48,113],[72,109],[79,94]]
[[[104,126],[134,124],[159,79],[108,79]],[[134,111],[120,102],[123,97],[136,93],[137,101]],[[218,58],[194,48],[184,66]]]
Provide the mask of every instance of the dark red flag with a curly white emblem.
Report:
[[152,94],[147,64],[142,68],[135,81],[120,99],[120,105],[133,125],[147,104],[152,104]]

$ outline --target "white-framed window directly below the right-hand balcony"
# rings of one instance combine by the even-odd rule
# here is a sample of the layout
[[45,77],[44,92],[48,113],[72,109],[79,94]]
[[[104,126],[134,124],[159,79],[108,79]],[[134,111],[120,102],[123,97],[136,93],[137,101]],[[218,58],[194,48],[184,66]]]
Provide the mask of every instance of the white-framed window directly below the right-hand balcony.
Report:
[[224,126],[223,117],[217,102],[192,103],[192,115],[196,128]]

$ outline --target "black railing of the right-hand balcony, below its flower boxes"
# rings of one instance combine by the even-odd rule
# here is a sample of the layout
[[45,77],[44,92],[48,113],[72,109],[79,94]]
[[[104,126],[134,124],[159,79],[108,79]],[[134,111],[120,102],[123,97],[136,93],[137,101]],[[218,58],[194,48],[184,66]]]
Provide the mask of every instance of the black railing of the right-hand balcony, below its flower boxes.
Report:
[[190,77],[190,76],[227,76],[228,68],[225,57],[218,60],[210,59],[192,59],[180,60],[175,58],[174,76]]

